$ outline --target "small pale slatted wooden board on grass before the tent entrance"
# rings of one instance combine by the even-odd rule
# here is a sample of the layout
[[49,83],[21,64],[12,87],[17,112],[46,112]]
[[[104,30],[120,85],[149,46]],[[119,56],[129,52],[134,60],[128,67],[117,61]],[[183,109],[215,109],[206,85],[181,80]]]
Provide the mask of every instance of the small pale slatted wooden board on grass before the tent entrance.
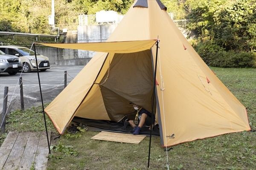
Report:
[[145,137],[146,136],[144,135],[132,135],[132,134],[125,134],[125,133],[114,133],[114,132],[102,131],[97,135],[93,136],[91,139],[139,144]]

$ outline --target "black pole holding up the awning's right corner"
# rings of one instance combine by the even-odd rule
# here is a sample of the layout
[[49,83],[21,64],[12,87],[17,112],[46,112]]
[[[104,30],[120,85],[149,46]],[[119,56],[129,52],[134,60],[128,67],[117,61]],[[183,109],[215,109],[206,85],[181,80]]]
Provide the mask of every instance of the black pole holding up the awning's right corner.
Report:
[[[157,42],[156,42],[156,45],[157,45],[157,52],[158,52],[158,46],[159,44],[159,40],[158,40],[158,37],[157,37]],[[149,139],[149,149],[148,149],[148,168],[149,168],[149,160],[150,160],[150,147],[151,147],[151,136],[152,136],[152,125],[153,125],[153,111],[154,111],[154,96],[155,96],[155,89],[156,89],[156,76],[157,76],[157,52],[156,52],[156,63],[155,63],[155,70],[154,70],[154,90],[153,90],[153,103],[152,103],[152,116],[151,116],[151,130],[150,130],[150,139]]]

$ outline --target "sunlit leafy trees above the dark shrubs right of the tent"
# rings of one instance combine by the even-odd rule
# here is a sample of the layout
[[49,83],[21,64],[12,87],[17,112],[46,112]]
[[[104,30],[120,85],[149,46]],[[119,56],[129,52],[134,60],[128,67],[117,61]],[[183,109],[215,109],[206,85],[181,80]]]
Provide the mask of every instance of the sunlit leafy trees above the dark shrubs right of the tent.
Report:
[[225,51],[256,51],[256,0],[187,0],[187,28]]

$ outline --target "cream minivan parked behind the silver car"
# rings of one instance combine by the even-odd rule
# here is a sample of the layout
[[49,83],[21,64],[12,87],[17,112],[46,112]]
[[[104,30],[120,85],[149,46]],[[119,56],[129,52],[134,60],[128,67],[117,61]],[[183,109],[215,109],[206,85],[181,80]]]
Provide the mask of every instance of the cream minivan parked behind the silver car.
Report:
[[[15,55],[20,57],[23,64],[23,73],[29,73],[31,70],[37,70],[36,60],[35,60],[35,51],[30,50],[26,47],[12,46],[12,45],[3,45],[0,46],[0,51],[8,55]],[[43,55],[36,53],[38,70],[46,71],[51,68],[49,63],[49,58]]]

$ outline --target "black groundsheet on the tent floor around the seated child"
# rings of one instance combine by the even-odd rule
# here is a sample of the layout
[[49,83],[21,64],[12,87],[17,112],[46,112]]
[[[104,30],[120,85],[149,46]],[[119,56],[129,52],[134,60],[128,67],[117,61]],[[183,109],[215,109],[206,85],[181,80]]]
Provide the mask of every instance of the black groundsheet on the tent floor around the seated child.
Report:
[[[84,119],[75,116],[72,122],[87,125],[88,131],[108,131],[132,134],[133,128],[130,126],[129,122],[125,121],[125,119],[127,119],[127,117],[119,122],[114,122],[107,120]],[[141,128],[140,135],[150,136],[150,130],[148,130],[148,127],[143,126]],[[158,125],[154,126],[152,136],[160,136]]]

